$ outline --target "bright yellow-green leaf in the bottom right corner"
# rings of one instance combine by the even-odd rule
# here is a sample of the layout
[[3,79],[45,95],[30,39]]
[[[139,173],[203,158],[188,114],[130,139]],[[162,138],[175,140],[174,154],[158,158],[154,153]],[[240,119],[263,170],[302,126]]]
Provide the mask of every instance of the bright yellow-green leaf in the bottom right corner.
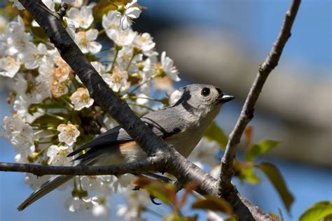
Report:
[[318,221],[332,214],[332,201],[320,201],[307,209],[299,221]]

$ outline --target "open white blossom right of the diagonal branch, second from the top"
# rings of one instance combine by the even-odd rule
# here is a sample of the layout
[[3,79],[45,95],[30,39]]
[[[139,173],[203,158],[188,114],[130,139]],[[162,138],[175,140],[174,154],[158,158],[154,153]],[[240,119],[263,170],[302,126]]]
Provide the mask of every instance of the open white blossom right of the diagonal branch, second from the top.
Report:
[[102,45],[95,41],[97,36],[97,29],[78,31],[78,33],[75,35],[75,42],[83,53],[91,52],[92,54],[95,54],[102,49]]

